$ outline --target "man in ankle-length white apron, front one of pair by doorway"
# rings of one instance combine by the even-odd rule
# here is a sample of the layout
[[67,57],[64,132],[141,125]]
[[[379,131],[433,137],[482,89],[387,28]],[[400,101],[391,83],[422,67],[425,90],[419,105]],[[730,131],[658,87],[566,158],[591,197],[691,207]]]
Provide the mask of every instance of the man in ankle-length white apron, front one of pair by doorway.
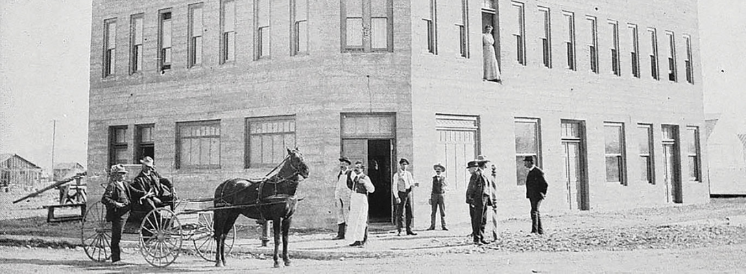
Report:
[[354,173],[351,174],[349,187],[352,189],[350,198],[350,246],[363,247],[368,240],[368,194],[375,191],[369,176],[363,171],[363,162],[355,162]]

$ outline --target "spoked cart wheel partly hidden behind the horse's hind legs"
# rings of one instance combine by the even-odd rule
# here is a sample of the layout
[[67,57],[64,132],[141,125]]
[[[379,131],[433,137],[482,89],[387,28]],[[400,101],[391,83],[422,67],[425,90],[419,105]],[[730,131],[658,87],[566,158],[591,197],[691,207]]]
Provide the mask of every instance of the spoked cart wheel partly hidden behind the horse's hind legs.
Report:
[[[213,212],[201,213],[198,217],[197,228],[192,235],[192,243],[197,254],[207,261],[215,261],[216,241],[213,238]],[[225,255],[231,253],[233,242],[236,240],[236,226],[233,225],[231,232],[225,235]]]

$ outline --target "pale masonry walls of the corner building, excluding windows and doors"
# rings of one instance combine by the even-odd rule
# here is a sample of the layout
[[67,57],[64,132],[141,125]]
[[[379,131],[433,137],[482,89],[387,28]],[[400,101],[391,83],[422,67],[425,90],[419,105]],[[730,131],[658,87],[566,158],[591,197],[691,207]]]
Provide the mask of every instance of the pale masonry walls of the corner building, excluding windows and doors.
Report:
[[[515,61],[513,33],[518,28],[518,19],[511,13],[512,2],[500,0],[495,31],[500,45],[498,60],[502,83],[481,79],[483,1],[467,1],[466,20],[460,17],[463,15],[460,1],[436,1],[434,25],[438,50],[437,54],[432,54],[427,51],[427,28],[422,20],[430,18],[428,1],[392,0],[393,16],[389,26],[392,51],[345,52],[340,48],[343,21],[340,5],[344,1],[309,0],[308,51],[295,56],[290,54],[290,2],[272,1],[269,58],[255,60],[254,1],[235,0],[236,57],[230,63],[220,62],[221,2],[202,1],[202,63],[189,68],[187,14],[189,4],[195,2],[94,1],[88,143],[88,167],[93,176],[103,178],[103,171],[110,163],[110,127],[127,127],[124,153],[135,162],[137,125],[154,124],[154,158],[161,173],[172,177],[183,197],[211,197],[213,189],[225,179],[263,176],[272,168],[266,165],[247,167],[245,153],[250,147],[246,141],[247,119],[289,115],[295,121],[295,144],[311,168],[311,177],[302,182],[298,190],[306,198],[298,206],[296,226],[333,226],[333,177],[336,158],[344,155],[362,159],[372,168],[371,172],[383,173],[395,170],[399,158],[410,159],[413,174],[421,182],[415,194],[416,226],[425,227],[429,225],[427,192],[432,165],[436,162],[450,165],[447,175],[454,180],[463,178],[463,167],[455,165],[471,154],[485,154],[497,168],[501,216],[527,214],[524,187],[515,179],[516,118],[538,121],[539,163],[550,184],[544,206],[549,213],[575,210],[570,209],[571,201],[568,201],[572,188],[568,188],[565,179],[561,121],[580,121],[584,126],[580,156],[586,175],[583,180],[586,206],[590,210],[671,203],[666,198],[670,194],[664,182],[662,125],[678,126],[680,136],[687,127],[703,129],[695,1],[677,1],[675,8],[670,5],[673,1],[635,0],[624,4],[604,1],[595,5],[579,0],[524,1],[527,64],[523,66]],[[551,9],[553,68],[542,66],[542,44],[537,38],[542,33],[543,21],[537,6]],[[158,11],[165,8],[171,8],[172,12],[172,68],[160,73]],[[563,11],[574,13],[575,70],[563,66],[566,56],[562,37],[568,32]],[[131,16],[138,13],[144,14],[143,66],[142,71],[130,74]],[[589,71],[586,34],[590,28],[586,16],[595,16],[598,22],[598,74]],[[104,20],[114,18],[114,73],[102,77]],[[611,73],[612,36],[608,19],[618,20],[621,76]],[[463,21],[467,22],[468,58],[460,56],[459,29],[454,25]],[[631,38],[627,23],[638,26],[639,78],[631,74]],[[651,39],[647,36],[647,28],[656,28],[658,34],[660,80],[651,78],[648,57]],[[664,73],[668,54],[665,31],[675,34],[677,82],[669,81]],[[692,37],[693,84],[686,81],[687,50],[683,34]],[[354,129],[352,124],[347,124],[349,131],[343,128],[347,121],[354,120],[345,120],[348,114],[369,117],[371,113],[393,115],[393,132],[373,133],[371,130],[377,127],[370,124],[368,128]],[[451,128],[445,122],[451,121],[449,119],[466,121],[464,123],[471,123],[472,128],[466,131],[465,127]],[[219,168],[178,168],[177,123],[212,120],[219,120]],[[472,120],[474,122],[469,122]],[[606,182],[604,122],[624,124],[626,185]],[[637,179],[640,157],[636,128],[639,123],[653,126],[654,185]],[[448,141],[442,141],[439,136],[463,132],[474,133],[463,135],[474,140],[473,148],[458,150],[466,154],[453,158],[454,162],[450,154],[441,149],[448,147],[445,144]],[[391,150],[385,153],[385,149],[375,148],[370,140],[389,140]],[[459,144],[469,143],[460,140]],[[680,163],[674,172],[681,185],[681,199],[677,202],[706,203],[709,195],[706,170],[699,168],[699,182],[689,182],[688,176],[682,175],[686,174],[688,157],[684,144],[680,141],[673,158]],[[369,150],[384,152],[389,163],[380,164]],[[706,162],[705,151],[700,150],[699,163]],[[466,182],[452,184],[454,187],[447,195],[447,217],[451,223],[467,222]],[[97,193],[91,189],[90,197],[96,197],[101,191]],[[388,211],[390,205],[384,208],[378,210]],[[389,213],[379,215],[386,214]]]

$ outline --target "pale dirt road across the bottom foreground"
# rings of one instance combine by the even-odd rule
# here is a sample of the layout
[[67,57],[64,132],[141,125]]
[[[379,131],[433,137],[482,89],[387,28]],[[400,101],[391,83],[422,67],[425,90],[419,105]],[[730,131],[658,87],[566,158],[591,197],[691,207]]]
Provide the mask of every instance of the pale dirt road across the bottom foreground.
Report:
[[344,261],[295,260],[272,268],[272,260],[233,257],[217,269],[193,256],[166,269],[150,267],[134,250],[122,266],[90,261],[81,250],[0,246],[0,273],[745,273],[746,245],[700,249],[486,252]]

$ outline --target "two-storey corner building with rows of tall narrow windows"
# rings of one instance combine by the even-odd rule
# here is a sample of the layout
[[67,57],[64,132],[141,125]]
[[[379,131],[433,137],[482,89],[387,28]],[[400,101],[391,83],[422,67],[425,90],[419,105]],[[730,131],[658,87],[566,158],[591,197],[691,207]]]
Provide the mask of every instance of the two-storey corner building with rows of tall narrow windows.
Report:
[[[706,203],[696,1],[96,0],[89,170],[153,156],[182,196],[263,176],[298,146],[312,168],[295,223],[333,225],[340,155],[392,217],[404,157],[429,224],[432,165],[468,222],[466,162],[492,159],[503,217],[525,215],[522,157],[545,211]],[[501,83],[484,81],[494,25]],[[95,194],[93,194],[95,197]]]

